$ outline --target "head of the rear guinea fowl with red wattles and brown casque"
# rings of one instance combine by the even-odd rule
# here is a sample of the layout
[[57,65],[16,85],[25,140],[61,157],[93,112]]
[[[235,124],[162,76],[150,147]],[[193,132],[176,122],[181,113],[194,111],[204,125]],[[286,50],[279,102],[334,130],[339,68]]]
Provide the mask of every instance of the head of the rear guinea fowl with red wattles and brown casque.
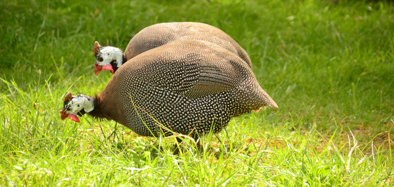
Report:
[[124,62],[126,62],[126,58],[121,49],[111,46],[102,47],[97,41],[93,45],[93,52],[96,57],[96,76],[102,69],[110,70],[113,74]]

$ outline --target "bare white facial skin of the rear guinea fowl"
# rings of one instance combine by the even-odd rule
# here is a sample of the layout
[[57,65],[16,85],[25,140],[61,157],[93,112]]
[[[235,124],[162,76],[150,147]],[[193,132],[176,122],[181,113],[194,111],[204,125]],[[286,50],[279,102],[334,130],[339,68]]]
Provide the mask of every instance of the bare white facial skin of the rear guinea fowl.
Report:
[[116,47],[102,47],[97,56],[97,64],[105,65],[112,61],[116,61],[115,64],[120,67],[122,65],[123,52],[121,49]]

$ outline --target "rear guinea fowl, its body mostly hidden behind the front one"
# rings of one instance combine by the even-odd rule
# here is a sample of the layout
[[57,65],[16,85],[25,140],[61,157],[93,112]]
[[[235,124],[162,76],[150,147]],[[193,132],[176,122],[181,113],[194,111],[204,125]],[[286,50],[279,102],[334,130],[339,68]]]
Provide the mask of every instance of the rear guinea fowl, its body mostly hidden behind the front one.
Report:
[[93,47],[96,56],[95,73],[98,75],[101,69],[114,73],[123,63],[145,51],[167,43],[190,39],[220,45],[239,56],[252,68],[246,51],[224,31],[203,23],[175,22],[156,24],[141,30],[130,40],[125,53],[116,47],[101,47],[96,41]]

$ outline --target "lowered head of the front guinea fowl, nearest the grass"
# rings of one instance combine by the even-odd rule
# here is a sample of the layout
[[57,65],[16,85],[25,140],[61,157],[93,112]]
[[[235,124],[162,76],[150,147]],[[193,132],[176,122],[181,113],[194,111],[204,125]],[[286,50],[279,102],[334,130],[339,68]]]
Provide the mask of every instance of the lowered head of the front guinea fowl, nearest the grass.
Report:
[[67,117],[72,121],[79,123],[78,116],[82,116],[85,113],[91,112],[94,109],[94,99],[86,95],[72,96],[71,92],[66,94],[63,110],[59,111],[62,115],[62,120]]

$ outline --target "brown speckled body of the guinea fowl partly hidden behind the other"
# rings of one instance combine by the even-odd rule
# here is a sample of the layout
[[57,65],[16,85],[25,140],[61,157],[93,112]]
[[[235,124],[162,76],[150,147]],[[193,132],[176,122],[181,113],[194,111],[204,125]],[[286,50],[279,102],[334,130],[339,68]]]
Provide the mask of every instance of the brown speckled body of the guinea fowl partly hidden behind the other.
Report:
[[204,40],[229,50],[239,56],[251,68],[252,63],[246,51],[224,31],[208,24],[196,22],[161,23],[138,32],[129,42],[126,59],[167,43],[181,40]]

